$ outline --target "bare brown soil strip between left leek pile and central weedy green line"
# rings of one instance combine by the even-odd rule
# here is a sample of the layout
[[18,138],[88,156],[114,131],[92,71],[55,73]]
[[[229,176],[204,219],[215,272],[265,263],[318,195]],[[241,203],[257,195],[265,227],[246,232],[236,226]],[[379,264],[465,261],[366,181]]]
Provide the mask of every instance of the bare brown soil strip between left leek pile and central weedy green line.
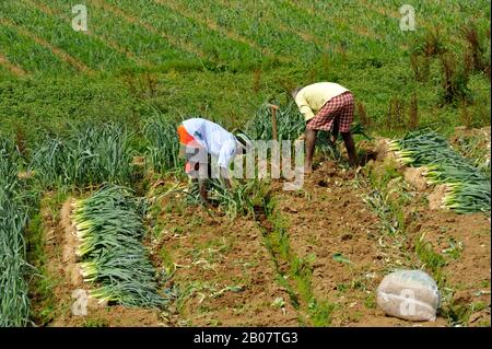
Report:
[[[296,312],[276,282],[256,223],[243,218],[231,222],[192,207],[166,212],[166,206],[180,200],[161,202],[164,229],[152,248],[156,265],[164,267],[168,259],[163,253],[177,265],[173,280],[181,294],[175,325],[296,326]],[[278,298],[283,307],[272,305]]]

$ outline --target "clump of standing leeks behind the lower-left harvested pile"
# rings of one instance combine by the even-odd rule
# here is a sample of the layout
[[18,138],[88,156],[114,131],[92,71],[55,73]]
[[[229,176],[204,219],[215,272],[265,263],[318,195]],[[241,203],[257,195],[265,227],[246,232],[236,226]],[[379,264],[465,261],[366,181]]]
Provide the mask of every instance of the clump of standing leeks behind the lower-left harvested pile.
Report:
[[73,127],[66,137],[46,135],[30,165],[47,187],[84,187],[132,179],[131,136],[115,124]]

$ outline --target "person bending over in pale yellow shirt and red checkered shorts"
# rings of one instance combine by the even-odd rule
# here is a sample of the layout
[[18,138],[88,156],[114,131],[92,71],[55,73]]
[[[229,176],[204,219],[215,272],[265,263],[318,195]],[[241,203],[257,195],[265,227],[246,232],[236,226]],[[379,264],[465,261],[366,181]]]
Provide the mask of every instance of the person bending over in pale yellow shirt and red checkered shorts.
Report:
[[338,83],[318,82],[294,90],[292,97],[307,123],[305,172],[313,172],[316,133],[319,130],[331,131],[330,141],[333,147],[340,131],[350,164],[356,167],[355,144],[350,132],[354,110],[352,92]]

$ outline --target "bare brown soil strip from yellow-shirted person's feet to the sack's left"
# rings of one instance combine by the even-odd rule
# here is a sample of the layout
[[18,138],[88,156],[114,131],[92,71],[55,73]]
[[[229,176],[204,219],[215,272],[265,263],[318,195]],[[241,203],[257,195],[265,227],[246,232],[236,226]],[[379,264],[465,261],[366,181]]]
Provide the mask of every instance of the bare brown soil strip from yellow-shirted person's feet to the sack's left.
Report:
[[375,304],[375,289],[395,260],[380,247],[379,220],[363,201],[368,188],[325,162],[303,189],[303,196],[280,193],[279,202],[292,248],[301,257],[314,256],[313,292],[336,305],[331,325],[412,326],[386,317]]

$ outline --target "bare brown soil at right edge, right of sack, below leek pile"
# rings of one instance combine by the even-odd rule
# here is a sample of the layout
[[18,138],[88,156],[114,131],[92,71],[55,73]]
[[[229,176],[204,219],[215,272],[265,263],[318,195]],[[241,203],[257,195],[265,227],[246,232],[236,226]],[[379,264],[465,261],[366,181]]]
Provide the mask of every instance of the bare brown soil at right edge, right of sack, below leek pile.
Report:
[[[422,195],[418,195],[415,200]],[[412,205],[408,213],[407,233],[412,242],[411,248],[423,235],[424,241],[429,242],[436,253],[445,256],[446,265],[443,267],[443,274],[446,284],[453,289],[454,303],[467,307],[472,304],[484,304],[484,311],[471,313],[470,326],[483,324],[490,326],[490,219],[482,213],[431,211],[423,205]]]

